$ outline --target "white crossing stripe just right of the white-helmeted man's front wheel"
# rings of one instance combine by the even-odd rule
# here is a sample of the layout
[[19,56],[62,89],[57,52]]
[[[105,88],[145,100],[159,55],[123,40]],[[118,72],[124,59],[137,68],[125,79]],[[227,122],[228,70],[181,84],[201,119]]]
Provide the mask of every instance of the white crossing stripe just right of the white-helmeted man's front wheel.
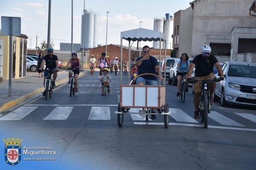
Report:
[[208,116],[215,120],[216,122],[219,122],[220,124],[222,125],[231,125],[231,126],[244,126],[244,125],[241,125],[240,123],[237,123],[235,122],[234,120],[232,119],[229,119],[228,117],[226,116],[223,116],[222,114],[216,112],[216,111],[211,111],[210,114],[208,114]]

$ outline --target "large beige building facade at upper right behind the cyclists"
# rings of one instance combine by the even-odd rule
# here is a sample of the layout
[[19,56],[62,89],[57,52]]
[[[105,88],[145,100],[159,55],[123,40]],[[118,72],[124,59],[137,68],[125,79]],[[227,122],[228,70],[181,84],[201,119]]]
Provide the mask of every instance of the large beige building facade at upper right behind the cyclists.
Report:
[[[252,3],[253,0],[194,0],[188,9],[176,12],[173,26],[175,56],[186,52],[194,57],[200,54],[204,44],[210,45],[212,54],[222,57],[223,61],[230,60],[238,49],[255,53],[256,18],[249,15]],[[238,35],[236,31],[240,36],[235,36]]]

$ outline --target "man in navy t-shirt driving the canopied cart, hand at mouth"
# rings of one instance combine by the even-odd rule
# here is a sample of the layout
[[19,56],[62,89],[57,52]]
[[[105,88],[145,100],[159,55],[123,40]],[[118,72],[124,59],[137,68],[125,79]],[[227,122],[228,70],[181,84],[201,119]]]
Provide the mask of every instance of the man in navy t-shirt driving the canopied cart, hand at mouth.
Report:
[[[155,57],[150,55],[150,50],[147,45],[142,48],[143,56],[137,58],[135,66],[138,68],[138,75],[144,73],[152,73],[154,75],[161,75],[160,67],[158,61]],[[161,76],[161,80],[163,80],[163,76]],[[136,79],[136,84],[138,85],[158,85],[157,77],[153,75],[143,75]],[[154,109],[151,110],[151,113],[155,113]],[[152,114],[151,119],[155,120],[156,115]]]

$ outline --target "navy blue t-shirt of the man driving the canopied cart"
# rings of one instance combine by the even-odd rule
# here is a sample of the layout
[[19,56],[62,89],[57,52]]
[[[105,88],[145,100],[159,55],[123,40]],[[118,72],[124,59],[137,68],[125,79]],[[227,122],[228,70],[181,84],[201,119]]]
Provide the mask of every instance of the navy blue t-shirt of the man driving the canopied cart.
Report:
[[[136,62],[141,60],[142,57],[137,58]],[[157,71],[155,69],[155,66],[157,65],[159,65],[157,59],[155,57],[149,56],[149,59],[143,60],[141,65],[138,67],[138,75],[143,73],[152,73],[157,75]],[[157,77],[153,75],[143,75],[142,78],[157,81]]]

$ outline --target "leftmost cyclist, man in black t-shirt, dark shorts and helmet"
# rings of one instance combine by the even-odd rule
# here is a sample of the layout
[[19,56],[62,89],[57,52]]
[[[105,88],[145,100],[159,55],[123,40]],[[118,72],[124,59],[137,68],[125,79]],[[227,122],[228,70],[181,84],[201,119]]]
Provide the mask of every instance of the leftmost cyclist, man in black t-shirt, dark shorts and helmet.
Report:
[[[46,54],[43,57],[41,67],[39,68],[40,70],[43,69],[44,63],[46,65],[46,68],[43,72],[43,86],[45,84],[45,79],[48,78],[48,71],[59,71],[59,63],[58,63],[58,57],[53,54],[53,48],[49,47],[47,48],[48,54]],[[47,70],[48,69],[48,70]],[[57,72],[53,72],[53,81],[52,81],[52,86],[55,86],[55,80],[57,78]],[[43,96],[45,95],[45,92],[43,92]]]

